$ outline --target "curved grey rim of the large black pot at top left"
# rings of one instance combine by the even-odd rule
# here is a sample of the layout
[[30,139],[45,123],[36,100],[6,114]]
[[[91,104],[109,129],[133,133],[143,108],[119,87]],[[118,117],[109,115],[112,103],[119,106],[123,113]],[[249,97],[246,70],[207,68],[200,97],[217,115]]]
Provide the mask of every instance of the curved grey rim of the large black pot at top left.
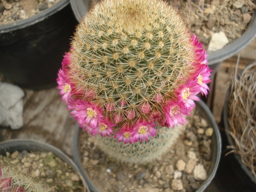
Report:
[[31,26],[33,24],[36,24],[45,18],[51,16],[52,14],[62,10],[65,6],[67,6],[70,3],[69,0],[60,0],[50,8],[47,8],[46,10],[35,14],[29,18],[23,19],[23,20],[18,20],[16,22],[12,22],[9,24],[4,24],[0,25],[0,34],[6,33],[6,32],[11,32],[14,30],[26,28],[28,26]]

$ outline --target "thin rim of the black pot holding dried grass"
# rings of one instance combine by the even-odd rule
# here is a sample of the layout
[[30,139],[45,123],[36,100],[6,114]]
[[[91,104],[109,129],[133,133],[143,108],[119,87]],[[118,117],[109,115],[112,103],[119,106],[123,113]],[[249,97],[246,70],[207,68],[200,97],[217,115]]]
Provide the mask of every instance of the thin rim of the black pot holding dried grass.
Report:
[[[225,96],[225,102],[224,102],[224,106],[223,106],[223,125],[224,125],[224,131],[225,131],[225,136],[228,140],[228,144],[230,146],[236,146],[232,136],[228,133],[229,132],[229,123],[228,123],[228,98],[231,94],[231,85],[229,86],[226,96]],[[256,186],[256,178],[252,175],[252,173],[250,172],[249,168],[242,162],[242,159],[240,156],[238,156],[236,153],[232,153],[230,155],[233,155],[235,160],[240,164],[242,170],[244,170],[244,172],[249,176],[249,178],[251,179],[251,181],[254,183],[254,185]]]

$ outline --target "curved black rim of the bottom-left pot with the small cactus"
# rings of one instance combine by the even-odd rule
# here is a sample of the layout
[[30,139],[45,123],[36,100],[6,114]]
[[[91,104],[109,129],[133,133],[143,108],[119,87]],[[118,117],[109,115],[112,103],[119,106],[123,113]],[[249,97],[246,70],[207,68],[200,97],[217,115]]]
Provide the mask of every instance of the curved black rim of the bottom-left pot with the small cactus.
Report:
[[58,158],[60,158],[62,161],[66,162],[68,165],[70,165],[73,170],[75,170],[82,179],[82,182],[86,188],[86,192],[90,192],[88,185],[86,183],[86,180],[82,177],[81,172],[79,171],[76,164],[60,149],[46,143],[33,141],[33,140],[21,140],[21,139],[13,139],[13,140],[6,140],[3,142],[0,142],[0,155],[6,156],[6,152],[14,152],[14,151],[23,151],[26,150],[28,152],[30,151],[44,151],[44,152],[52,152],[54,155],[56,155]]

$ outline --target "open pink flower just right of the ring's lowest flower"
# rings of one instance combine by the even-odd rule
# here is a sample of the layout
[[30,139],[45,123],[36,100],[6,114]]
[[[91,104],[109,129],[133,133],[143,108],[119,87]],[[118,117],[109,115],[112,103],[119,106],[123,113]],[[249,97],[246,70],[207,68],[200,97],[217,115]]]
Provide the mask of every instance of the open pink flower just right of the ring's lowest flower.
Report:
[[133,142],[137,142],[139,138],[141,142],[143,142],[144,139],[148,142],[148,136],[154,137],[156,135],[157,130],[154,128],[155,126],[154,122],[148,123],[140,119],[138,123],[133,126]]

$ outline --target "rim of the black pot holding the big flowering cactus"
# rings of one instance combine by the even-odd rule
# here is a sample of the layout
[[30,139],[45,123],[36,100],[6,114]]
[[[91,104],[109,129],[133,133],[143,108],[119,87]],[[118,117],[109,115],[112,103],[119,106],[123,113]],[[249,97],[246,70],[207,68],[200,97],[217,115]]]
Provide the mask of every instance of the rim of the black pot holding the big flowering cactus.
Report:
[[[200,114],[205,118],[208,125],[214,129],[214,132],[212,134],[212,160],[209,166],[208,176],[206,180],[202,183],[202,185],[196,190],[196,192],[203,192],[207,186],[210,184],[212,179],[214,178],[218,164],[220,161],[220,155],[221,155],[221,138],[220,138],[220,132],[218,129],[218,126],[214,120],[214,117],[212,116],[212,113],[210,112],[210,109],[204,102],[199,101],[196,102],[196,108],[200,112]],[[86,183],[88,184],[89,188],[93,192],[99,192],[97,187],[92,183],[90,180],[88,174],[86,173],[86,170],[84,169],[84,166],[82,165],[82,157],[80,152],[80,135],[82,133],[82,129],[78,124],[76,124],[76,128],[74,131],[74,137],[73,137],[73,157],[74,162],[78,166],[78,169],[82,173],[82,176],[85,178]]]

